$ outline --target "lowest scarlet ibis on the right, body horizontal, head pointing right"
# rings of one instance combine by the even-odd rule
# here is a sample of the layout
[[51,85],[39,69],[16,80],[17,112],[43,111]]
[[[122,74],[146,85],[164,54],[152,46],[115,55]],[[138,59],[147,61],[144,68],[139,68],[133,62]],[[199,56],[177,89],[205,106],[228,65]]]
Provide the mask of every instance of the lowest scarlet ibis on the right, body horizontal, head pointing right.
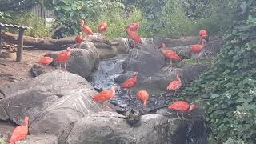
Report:
[[[174,102],[173,104],[171,104],[168,108],[170,110],[176,110],[177,116],[178,116],[178,112],[182,113],[182,118],[184,118],[183,113],[185,113],[185,112],[190,113],[192,110],[198,109],[198,106],[196,106],[194,104],[190,105],[188,102],[185,102],[185,101],[178,101],[178,102]],[[181,119],[179,116],[178,116],[178,118]]]

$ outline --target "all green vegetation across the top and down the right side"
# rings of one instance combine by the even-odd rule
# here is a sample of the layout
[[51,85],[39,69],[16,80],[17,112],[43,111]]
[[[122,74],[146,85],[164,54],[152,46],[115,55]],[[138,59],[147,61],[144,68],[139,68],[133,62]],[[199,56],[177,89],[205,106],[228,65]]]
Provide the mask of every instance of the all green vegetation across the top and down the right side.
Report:
[[107,38],[126,37],[130,22],[141,22],[142,37],[178,38],[198,35],[201,29],[223,36],[222,52],[183,98],[201,102],[213,144],[256,143],[255,0],[2,0],[0,22],[32,26],[27,35],[48,36],[53,27],[26,12],[36,2],[54,10],[54,26],[67,26],[64,36],[78,34],[81,18],[93,30],[98,22],[107,22]]

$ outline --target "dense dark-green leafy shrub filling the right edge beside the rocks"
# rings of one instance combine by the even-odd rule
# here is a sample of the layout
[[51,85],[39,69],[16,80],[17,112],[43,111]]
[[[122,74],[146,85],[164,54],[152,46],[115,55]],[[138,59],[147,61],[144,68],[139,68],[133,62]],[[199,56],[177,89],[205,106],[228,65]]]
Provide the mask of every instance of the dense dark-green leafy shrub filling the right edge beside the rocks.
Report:
[[256,1],[239,1],[238,12],[224,49],[184,95],[207,99],[214,143],[256,143]]

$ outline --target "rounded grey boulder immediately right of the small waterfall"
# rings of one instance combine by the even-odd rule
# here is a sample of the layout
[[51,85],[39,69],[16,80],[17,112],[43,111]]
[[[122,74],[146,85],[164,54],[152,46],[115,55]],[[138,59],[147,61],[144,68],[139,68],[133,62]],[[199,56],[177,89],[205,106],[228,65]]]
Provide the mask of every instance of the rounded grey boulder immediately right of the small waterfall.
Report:
[[154,45],[142,45],[130,50],[122,68],[126,71],[138,71],[150,76],[155,74],[165,63],[165,57],[158,52]]

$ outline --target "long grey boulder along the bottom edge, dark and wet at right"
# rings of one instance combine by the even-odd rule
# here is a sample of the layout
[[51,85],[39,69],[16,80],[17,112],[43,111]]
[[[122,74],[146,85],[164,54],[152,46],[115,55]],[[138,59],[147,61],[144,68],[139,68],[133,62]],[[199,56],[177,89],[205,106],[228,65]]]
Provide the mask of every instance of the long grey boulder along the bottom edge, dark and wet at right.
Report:
[[[200,126],[201,130],[197,130]],[[130,126],[126,118],[113,112],[89,114],[74,125],[68,144],[122,143],[207,143],[207,131],[202,120],[170,119],[160,114],[142,115],[138,126]],[[199,127],[198,127],[199,128]],[[192,133],[192,134],[190,134]],[[202,142],[200,142],[202,141]]]

